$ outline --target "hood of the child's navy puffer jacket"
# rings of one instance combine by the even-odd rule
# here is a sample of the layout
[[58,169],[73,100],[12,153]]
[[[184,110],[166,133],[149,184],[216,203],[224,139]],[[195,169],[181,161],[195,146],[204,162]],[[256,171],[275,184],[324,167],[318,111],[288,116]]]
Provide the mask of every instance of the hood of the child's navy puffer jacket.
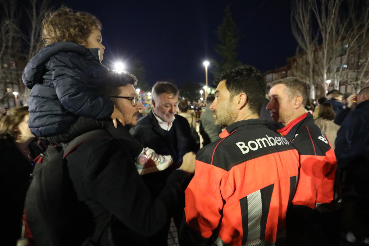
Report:
[[84,45],[73,42],[55,42],[49,44],[28,62],[22,74],[24,85],[32,89],[35,84],[42,83],[42,76],[46,72],[46,63],[52,56],[61,52],[73,52],[86,58],[99,59],[99,48],[86,49]]

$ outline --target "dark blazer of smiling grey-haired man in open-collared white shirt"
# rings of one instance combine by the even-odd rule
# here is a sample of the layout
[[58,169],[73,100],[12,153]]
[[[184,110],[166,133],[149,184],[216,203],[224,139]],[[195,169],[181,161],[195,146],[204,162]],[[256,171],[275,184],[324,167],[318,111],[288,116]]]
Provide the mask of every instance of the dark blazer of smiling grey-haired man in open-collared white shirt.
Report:
[[197,152],[199,148],[191,136],[190,125],[186,118],[175,115],[173,126],[176,133],[177,146],[172,146],[166,139],[164,130],[159,126],[154,113],[142,117],[130,132],[142,146],[154,149],[160,155],[171,155],[174,162],[182,162],[187,152]]

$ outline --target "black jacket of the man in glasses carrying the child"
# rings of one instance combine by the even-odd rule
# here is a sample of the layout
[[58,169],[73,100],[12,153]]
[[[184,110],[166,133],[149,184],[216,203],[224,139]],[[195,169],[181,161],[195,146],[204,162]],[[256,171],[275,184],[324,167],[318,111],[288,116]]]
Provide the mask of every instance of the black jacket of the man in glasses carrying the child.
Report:
[[[121,130],[127,131],[124,127]],[[66,157],[73,187],[78,200],[92,213],[95,230],[108,212],[112,214],[98,245],[113,245],[112,241],[115,245],[147,245],[146,236],[156,233],[166,222],[167,214],[184,192],[188,176],[181,170],[174,171],[156,200],[152,200],[137,172],[134,156],[128,151],[130,143],[119,139],[116,131],[108,132],[110,139],[82,143]],[[68,137],[78,135],[74,132]]]

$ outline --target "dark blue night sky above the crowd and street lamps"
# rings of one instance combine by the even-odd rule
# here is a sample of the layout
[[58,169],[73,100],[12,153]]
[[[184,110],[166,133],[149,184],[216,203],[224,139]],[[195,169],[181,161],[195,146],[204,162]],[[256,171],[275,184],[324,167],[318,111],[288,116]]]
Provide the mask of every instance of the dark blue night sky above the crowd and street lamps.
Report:
[[[162,80],[174,80],[179,86],[187,80],[205,83],[203,62],[219,60],[215,31],[228,4],[241,34],[237,52],[243,64],[265,72],[286,65],[297,46],[290,27],[290,0],[58,0],[53,4],[96,15],[103,24],[103,64],[111,67],[121,61],[129,67],[139,59],[150,85]],[[209,84],[213,79],[209,72]]]

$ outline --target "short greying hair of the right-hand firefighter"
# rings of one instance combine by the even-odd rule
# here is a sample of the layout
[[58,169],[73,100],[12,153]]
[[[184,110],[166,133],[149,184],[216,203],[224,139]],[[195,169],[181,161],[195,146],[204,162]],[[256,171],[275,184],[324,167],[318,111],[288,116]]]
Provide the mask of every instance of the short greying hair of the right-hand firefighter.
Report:
[[306,101],[309,98],[309,95],[307,92],[307,85],[305,82],[303,82],[300,79],[297,79],[296,77],[287,77],[284,79],[274,80],[272,83],[270,83],[270,86],[273,87],[276,84],[284,84],[287,87],[290,100],[293,97],[301,96],[302,105],[304,106],[306,105]]

